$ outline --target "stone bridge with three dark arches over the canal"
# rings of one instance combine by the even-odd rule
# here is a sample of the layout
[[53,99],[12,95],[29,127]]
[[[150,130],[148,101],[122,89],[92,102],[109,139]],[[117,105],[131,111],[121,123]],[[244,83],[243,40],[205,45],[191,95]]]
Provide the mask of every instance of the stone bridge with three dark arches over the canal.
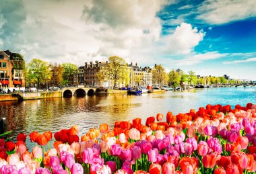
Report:
[[65,87],[62,90],[62,97],[77,95],[93,95],[96,87]]

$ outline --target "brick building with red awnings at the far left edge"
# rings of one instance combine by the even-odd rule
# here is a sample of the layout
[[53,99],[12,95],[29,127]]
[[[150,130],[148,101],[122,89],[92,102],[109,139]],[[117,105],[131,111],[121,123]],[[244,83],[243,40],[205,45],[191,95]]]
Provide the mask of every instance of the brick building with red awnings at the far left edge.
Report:
[[18,53],[0,51],[0,87],[25,87],[25,62]]

